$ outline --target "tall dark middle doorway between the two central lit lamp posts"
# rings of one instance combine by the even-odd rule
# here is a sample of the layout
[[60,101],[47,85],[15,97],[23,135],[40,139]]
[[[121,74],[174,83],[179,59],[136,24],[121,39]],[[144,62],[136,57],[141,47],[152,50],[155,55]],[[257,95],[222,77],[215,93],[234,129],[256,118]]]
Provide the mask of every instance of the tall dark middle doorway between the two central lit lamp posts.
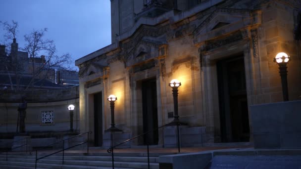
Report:
[[[156,79],[142,82],[142,108],[143,108],[143,131],[153,130],[158,127],[157,114],[157,89]],[[155,130],[145,135],[144,144],[158,144],[158,131]]]

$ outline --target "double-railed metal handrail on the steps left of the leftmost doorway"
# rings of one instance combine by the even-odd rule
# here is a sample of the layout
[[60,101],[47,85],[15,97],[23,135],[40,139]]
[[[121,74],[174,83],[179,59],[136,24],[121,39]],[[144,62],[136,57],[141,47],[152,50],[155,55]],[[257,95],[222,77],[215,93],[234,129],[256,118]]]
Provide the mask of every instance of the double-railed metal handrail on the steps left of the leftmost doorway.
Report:
[[[84,142],[81,142],[81,143],[79,143],[79,144],[73,145],[73,146],[71,146],[71,147],[65,148],[65,141],[66,141],[66,140],[69,140],[69,139],[71,139],[71,138],[74,138],[74,137],[77,137],[77,136],[80,136],[80,135],[83,135],[83,134],[87,134],[87,133],[88,133],[87,141],[84,141]],[[91,131],[84,132],[84,133],[75,135],[75,136],[73,136],[73,137],[66,138],[66,139],[63,139],[63,140],[61,140],[61,141],[57,141],[56,143],[58,143],[58,142],[63,142],[63,149],[62,149],[62,150],[59,150],[59,151],[56,151],[56,152],[54,152],[54,153],[51,153],[51,154],[49,154],[49,155],[40,157],[40,158],[37,158],[37,157],[38,157],[38,150],[36,150],[36,164],[35,164],[35,169],[37,169],[37,161],[38,161],[38,160],[44,159],[44,158],[46,158],[46,157],[49,157],[49,156],[51,156],[51,155],[53,155],[53,154],[56,154],[56,153],[59,153],[59,152],[63,152],[62,164],[64,164],[64,154],[65,154],[64,151],[65,151],[65,150],[68,150],[68,149],[70,149],[70,148],[73,148],[73,147],[76,147],[76,146],[85,144],[85,143],[87,143],[87,153],[89,153],[89,133],[91,134],[92,132],[91,132]],[[50,145],[52,145],[52,144],[50,144]]]

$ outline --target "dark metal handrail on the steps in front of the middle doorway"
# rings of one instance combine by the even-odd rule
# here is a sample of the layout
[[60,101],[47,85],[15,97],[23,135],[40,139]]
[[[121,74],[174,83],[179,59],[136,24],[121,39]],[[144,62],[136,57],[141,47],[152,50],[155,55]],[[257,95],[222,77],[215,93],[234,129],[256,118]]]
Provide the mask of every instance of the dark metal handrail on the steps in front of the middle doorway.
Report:
[[[135,137],[132,137],[132,138],[130,138],[130,139],[127,139],[127,140],[125,140],[125,141],[123,141],[123,142],[121,142],[121,143],[119,143],[119,144],[117,144],[117,145],[114,145],[114,146],[108,148],[106,151],[107,151],[108,153],[112,153],[112,169],[114,169],[114,148],[115,148],[115,147],[120,146],[121,144],[124,144],[124,143],[126,143],[126,142],[129,142],[129,141],[131,141],[131,140],[133,140],[133,139],[135,139],[135,138],[138,138],[138,137],[140,137],[140,136],[143,136],[143,135],[145,135],[145,134],[147,134],[147,133],[149,133],[149,132],[156,131],[156,130],[158,130],[159,128],[166,127],[166,126],[172,126],[172,125],[176,125],[176,126],[177,126],[178,152],[180,153],[179,125],[181,125],[181,123],[180,123],[180,122],[171,122],[171,123],[168,123],[168,124],[163,125],[163,126],[161,126],[161,127],[157,127],[157,128],[155,128],[155,129],[153,129],[153,130],[146,131],[146,132],[144,132],[144,133],[142,133],[142,134],[139,134],[139,135],[137,135],[137,136],[135,136]],[[112,138],[113,138],[113,137],[112,137],[112,134],[111,134],[111,140],[113,140]],[[112,143],[113,143],[113,141],[112,141]],[[148,151],[148,168],[150,169],[150,149],[149,149],[149,142],[148,142],[148,141],[147,141],[147,149],[148,149],[148,150],[147,150],[147,151]]]

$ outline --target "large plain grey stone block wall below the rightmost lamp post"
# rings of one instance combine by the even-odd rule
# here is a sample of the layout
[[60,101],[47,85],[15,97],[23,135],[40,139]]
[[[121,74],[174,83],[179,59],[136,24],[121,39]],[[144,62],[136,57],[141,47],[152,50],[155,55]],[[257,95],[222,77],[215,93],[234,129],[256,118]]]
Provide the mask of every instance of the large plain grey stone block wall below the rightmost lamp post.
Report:
[[301,100],[251,106],[254,148],[301,148]]

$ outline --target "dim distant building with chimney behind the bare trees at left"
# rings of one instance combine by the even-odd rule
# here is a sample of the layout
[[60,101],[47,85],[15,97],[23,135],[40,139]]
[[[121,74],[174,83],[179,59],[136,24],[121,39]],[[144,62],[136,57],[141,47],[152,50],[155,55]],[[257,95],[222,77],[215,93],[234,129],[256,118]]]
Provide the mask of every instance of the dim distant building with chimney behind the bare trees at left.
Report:
[[64,70],[62,67],[42,69],[39,77],[32,80],[33,68],[43,68],[45,56],[29,58],[27,52],[18,51],[16,39],[11,43],[9,55],[5,46],[0,45],[0,89],[22,90],[30,85],[35,90],[64,88],[79,84],[76,71]]

